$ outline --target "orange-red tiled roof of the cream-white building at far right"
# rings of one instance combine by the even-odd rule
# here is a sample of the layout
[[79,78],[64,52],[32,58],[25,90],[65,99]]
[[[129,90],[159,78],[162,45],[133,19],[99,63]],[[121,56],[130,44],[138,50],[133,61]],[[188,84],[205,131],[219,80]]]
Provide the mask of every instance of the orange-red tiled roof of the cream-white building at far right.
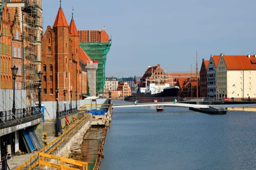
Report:
[[256,69],[253,64],[256,59],[253,55],[250,58],[247,55],[223,55],[223,59],[228,70]]

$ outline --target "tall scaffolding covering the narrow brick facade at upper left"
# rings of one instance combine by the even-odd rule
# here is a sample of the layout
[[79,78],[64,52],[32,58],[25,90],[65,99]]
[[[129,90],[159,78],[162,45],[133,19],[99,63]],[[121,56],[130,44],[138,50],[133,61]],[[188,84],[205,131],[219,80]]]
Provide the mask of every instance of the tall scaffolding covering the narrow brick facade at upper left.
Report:
[[41,0],[25,0],[22,8],[23,87],[27,90],[28,100],[37,99],[42,31]]

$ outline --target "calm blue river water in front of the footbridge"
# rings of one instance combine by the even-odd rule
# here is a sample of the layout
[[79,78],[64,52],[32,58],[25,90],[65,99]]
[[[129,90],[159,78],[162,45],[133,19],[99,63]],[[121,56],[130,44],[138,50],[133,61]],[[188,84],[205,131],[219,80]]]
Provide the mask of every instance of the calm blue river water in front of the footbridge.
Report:
[[256,112],[115,108],[100,170],[256,170]]

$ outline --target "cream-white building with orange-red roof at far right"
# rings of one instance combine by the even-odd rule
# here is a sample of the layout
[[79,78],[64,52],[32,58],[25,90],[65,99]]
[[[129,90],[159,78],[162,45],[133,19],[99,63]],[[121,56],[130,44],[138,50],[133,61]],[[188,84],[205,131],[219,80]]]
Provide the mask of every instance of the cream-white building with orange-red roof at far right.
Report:
[[221,98],[256,98],[256,55],[221,55],[217,91]]

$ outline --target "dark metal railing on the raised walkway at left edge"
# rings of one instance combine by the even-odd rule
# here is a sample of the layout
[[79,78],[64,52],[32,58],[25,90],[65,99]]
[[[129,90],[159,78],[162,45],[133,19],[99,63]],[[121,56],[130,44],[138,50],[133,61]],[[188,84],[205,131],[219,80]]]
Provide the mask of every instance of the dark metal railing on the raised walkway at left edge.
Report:
[[36,114],[40,114],[39,108],[36,106],[17,109],[15,111],[15,114],[13,114],[12,110],[0,111],[0,123],[6,123],[8,121],[16,119],[19,120]]

